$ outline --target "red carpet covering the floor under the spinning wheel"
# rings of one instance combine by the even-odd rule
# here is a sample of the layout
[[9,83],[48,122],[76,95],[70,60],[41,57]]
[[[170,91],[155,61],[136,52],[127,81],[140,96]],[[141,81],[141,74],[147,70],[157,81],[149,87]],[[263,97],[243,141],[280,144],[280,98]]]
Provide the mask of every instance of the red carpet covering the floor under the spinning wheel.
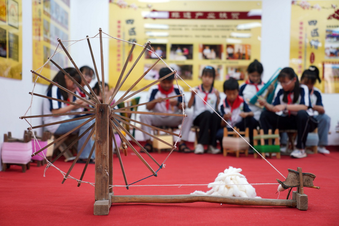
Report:
[[[302,167],[303,172],[314,173],[314,185],[320,190],[305,188],[308,210],[289,207],[255,207],[220,205],[214,203],[188,204],[114,204],[109,215],[94,216],[94,187],[71,179],[61,184],[62,174],[54,168],[31,164],[25,173],[18,166],[0,172],[0,225],[338,225],[338,163],[339,148],[328,147],[330,155],[314,154],[303,159],[282,156],[268,159],[285,177],[287,169]],[[168,152],[154,153],[162,163]],[[142,154],[151,164],[146,154]],[[149,170],[131,152],[122,156],[128,183],[148,175]],[[233,155],[177,153],[166,161],[158,177],[149,177],[136,185],[208,184],[219,172],[229,166],[241,168],[249,183],[276,183],[284,178],[262,159],[253,155],[236,158]],[[67,172],[71,163],[57,161],[56,165]],[[155,170],[158,168],[151,164]],[[80,178],[84,164],[76,164],[71,175]],[[114,158],[114,184],[123,185],[118,158]],[[87,168],[84,181],[94,182],[94,165]],[[277,199],[277,185],[254,185],[258,196]],[[115,195],[137,194],[190,194],[195,190],[207,191],[207,186],[156,186],[115,187]],[[295,190],[295,189],[293,189]],[[287,192],[280,192],[285,199]]]

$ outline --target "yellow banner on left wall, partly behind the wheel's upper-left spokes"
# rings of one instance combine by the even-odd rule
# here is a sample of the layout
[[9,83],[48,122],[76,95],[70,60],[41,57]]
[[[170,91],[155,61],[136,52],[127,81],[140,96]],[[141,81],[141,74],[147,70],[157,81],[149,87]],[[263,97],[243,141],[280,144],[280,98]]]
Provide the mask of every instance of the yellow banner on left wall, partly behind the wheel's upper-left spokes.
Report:
[[[48,57],[54,54],[59,43],[58,38],[68,40],[69,0],[33,0],[32,4],[33,70],[37,70],[38,73],[41,73],[46,78],[53,79],[59,69],[51,62],[46,65],[44,63]],[[66,44],[64,45],[67,46]],[[60,50],[59,48],[58,51]],[[52,59],[61,68],[68,67],[69,59],[63,51],[55,54]],[[41,71],[42,65],[44,67]],[[49,84],[42,78],[39,78],[37,82]]]

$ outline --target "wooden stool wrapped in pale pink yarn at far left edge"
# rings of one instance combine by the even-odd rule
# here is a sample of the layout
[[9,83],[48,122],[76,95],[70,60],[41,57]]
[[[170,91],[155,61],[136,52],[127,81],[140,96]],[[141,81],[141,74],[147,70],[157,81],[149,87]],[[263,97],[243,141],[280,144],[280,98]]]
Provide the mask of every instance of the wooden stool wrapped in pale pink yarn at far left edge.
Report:
[[23,139],[16,139],[12,137],[11,132],[8,132],[8,135],[4,134],[3,141],[2,171],[6,171],[11,165],[18,165],[22,167],[23,173],[26,172],[31,164],[32,142],[30,135],[25,131]]

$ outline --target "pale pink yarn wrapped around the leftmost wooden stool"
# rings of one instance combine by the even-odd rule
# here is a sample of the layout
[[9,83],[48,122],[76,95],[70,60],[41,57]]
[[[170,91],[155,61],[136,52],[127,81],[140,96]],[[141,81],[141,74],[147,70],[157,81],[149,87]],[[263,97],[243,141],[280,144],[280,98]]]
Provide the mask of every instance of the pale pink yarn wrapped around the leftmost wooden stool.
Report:
[[1,158],[3,163],[27,164],[31,161],[32,141],[27,143],[4,142]]

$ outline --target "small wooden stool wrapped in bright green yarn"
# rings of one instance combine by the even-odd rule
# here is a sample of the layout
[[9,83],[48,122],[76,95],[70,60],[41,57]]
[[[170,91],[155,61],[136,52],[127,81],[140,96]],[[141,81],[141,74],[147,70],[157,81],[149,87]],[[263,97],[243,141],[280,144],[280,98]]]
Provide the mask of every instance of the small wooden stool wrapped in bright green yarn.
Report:
[[[268,140],[268,145],[265,145],[265,140]],[[274,145],[273,145],[274,139]],[[258,140],[260,140],[260,145],[258,145]],[[277,158],[280,158],[280,142],[279,142],[279,130],[276,129],[274,134],[272,134],[272,130],[268,130],[268,134],[264,134],[264,130],[260,130],[260,135],[258,135],[258,130],[253,130],[253,147],[257,150],[263,158],[265,158],[265,154],[269,153],[270,158],[272,158],[272,153],[276,153]],[[258,157],[258,153],[254,151],[254,158]]]

